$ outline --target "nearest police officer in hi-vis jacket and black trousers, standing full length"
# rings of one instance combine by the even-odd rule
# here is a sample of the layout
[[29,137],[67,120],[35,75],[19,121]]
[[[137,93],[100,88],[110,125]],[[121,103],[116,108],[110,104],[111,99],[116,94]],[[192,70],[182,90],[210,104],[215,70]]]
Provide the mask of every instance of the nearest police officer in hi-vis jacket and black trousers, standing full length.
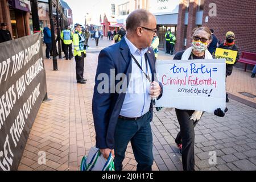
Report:
[[75,24],[76,30],[73,34],[74,44],[74,56],[76,60],[76,80],[79,84],[86,84],[84,79],[84,57],[86,57],[85,51],[85,37],[82,34],[81,24]]

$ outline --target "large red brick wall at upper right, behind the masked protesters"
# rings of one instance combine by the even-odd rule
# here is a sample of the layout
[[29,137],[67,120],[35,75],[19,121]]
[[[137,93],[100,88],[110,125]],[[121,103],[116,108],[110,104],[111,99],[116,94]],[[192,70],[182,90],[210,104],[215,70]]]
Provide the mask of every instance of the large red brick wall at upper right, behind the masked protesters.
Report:
[[[217,5],[216,17],[208,15],[209,3],[212,2]],[[209,16],[207,23],[205,16]],[[256,53],[256,1],[205,0],[203,26],[213,28],[214,34],[222,41],[227,31],[233,31],[240,52]]]

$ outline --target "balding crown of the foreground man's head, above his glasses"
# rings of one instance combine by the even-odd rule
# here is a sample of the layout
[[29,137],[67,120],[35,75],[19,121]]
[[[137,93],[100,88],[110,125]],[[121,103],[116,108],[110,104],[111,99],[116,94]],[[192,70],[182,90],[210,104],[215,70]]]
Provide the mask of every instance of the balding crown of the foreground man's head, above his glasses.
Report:
[[126,19],[126,30],[134,31],[137,27],[148,24],[151,16],[154,15],[143,9],[131,12]]

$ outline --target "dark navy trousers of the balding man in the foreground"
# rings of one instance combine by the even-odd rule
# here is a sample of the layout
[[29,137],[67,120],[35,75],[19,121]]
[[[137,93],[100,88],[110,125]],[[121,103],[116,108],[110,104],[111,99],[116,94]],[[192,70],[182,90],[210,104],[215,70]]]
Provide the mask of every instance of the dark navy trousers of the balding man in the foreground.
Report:
[[151,113],[144,114],[137,120],[118,119],[115,127],[115,170],[122,170],[122,162],[125,159],[125,151],[131,141],[137,171],[151,171],[153,164],[152,131],[150,126]]

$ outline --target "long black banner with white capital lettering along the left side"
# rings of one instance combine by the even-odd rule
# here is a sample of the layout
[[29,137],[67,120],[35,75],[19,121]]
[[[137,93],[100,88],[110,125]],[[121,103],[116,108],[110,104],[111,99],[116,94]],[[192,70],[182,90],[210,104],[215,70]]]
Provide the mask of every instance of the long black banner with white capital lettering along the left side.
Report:
[[18,169],[46,90],[41,35],[0,43],[0,171]]

